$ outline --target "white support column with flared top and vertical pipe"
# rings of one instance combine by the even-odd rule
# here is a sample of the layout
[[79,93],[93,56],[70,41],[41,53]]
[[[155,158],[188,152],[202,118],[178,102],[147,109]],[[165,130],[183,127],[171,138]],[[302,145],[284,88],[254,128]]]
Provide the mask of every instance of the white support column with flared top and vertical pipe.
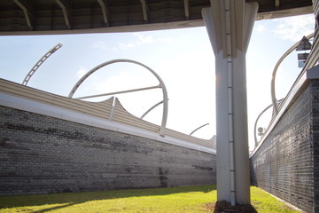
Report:
[[202,11],[216,73],[217,199],[250,203],[245,53],[258,11],[245,0],[211,0]]

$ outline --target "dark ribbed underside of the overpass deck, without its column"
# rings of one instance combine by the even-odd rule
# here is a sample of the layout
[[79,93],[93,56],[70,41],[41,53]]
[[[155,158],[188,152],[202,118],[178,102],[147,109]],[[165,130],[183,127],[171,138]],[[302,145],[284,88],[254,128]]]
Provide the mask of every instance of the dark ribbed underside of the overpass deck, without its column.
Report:
[[[246,2],[254,2],[247,0]],[[258,0],[257,20],[312,13],[312,0]],[[210,0],[3,0],[0,35],[129,32],[204,26]]]

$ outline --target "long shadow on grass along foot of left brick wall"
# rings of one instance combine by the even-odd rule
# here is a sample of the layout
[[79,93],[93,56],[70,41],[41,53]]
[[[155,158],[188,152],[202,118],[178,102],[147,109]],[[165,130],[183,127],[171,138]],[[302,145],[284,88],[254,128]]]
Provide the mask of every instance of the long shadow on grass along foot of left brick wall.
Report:
[[54,209],[63,209],[68,206],[88,201],[113,200],[129,197],[159,196],[173,193],[209,193],[216,190],[215,185],[179,186],[169,188],[146,188],[129,190],[112,190],[82,193],[47,193],[35,195],[0,196],[0,210],[7,208],[23,208],[43,205],[59,205],[35,212],[45,212]]

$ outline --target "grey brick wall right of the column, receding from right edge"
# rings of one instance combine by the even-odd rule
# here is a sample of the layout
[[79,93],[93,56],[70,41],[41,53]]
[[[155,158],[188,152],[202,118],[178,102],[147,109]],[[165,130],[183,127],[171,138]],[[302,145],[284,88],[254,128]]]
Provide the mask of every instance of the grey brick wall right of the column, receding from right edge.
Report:
[[251,158],[253,185],[319,212],[319,82],[311,81]]

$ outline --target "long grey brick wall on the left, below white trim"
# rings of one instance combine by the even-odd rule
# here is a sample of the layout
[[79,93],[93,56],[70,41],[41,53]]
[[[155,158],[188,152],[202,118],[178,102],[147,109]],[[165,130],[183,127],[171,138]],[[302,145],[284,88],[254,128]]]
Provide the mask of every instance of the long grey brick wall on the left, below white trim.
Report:
[[0,194],[214,185],[215,155],[0,106]]

